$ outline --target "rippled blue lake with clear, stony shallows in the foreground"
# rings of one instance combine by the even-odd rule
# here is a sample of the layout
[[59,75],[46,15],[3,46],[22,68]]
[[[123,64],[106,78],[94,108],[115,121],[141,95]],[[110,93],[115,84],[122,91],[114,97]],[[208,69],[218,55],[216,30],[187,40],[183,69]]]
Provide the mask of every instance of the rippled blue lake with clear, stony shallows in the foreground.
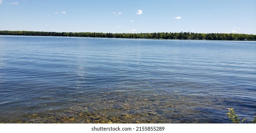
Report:
[[256,42],[0,36],[0,123],[256,115]]

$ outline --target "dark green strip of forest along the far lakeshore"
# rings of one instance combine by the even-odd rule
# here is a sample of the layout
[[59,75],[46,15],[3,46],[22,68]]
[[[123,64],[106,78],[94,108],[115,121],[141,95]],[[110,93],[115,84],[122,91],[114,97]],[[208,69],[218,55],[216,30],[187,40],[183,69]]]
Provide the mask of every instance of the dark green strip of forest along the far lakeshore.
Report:
[[91,38],[147,38],[147,39],[193,39],[193,40],[256,40],[252,34],[227,33],[96,33],[96,32],[43,32],[43,31],[0,31],[0,35],[57,36]]

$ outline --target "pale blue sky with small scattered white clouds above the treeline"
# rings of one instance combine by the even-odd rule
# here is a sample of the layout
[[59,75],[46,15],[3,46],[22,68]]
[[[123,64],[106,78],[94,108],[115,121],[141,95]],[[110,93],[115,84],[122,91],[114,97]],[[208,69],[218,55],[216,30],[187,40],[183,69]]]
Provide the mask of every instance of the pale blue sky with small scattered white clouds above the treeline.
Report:
[[256,0],[0,0],[0,30],[256,34]]

